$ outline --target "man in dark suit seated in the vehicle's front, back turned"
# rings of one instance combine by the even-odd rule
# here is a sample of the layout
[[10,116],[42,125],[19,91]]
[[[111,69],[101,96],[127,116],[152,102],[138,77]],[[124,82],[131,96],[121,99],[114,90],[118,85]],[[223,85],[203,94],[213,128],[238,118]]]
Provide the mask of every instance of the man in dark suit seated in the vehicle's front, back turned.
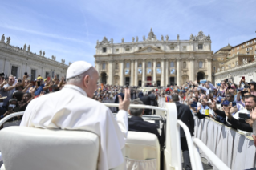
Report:
[[[143,104],[143,102],[140,99],[134,99],[131,104]],[[146,122],[141,118],[144,114],[143,108],[130,108],[128,113],[132,115],[132,117],[128,119],[129,131],[153,133],[157,136],[158,141],[160,141],[160,135],[157,131],[156,124]]]

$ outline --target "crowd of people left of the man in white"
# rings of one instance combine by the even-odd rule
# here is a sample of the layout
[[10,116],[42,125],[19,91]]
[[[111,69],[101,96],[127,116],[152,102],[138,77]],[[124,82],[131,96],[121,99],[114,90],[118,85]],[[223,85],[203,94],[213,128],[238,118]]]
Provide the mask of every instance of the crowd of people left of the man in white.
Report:
[[[17,79],[14,75],[6,76],[2,72],[0,74],[0,119],[14,112],[25,111],[32,99],[59,91],[66,83],[64,78],[59,80],[56,75],[54,79],[49,78],[43,79],[39,75],[37,79],[31,80],[25,73],[22,79]],[[10,121],[18,119],[21,120],[22,116]]]

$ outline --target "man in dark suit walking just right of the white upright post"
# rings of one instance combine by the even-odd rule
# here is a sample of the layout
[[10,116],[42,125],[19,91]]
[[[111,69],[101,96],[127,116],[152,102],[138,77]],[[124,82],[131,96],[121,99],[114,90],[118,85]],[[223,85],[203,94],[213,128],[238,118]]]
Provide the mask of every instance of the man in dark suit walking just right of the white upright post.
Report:
[[[177,107],[177,119],[181,119],[185,125],[189,128],[189,132],[191,136],[193,136],[193,128],[194,128],[194,120],[192,112],[190,111],[189,106],[185,104],[181,104],[179,102],[179,95],[173,94],[172,95],[173,102],[176,103]],[[189,148],[187,144],[187,140],[185,138],[185,132],[183,128],[181,127],[181,150],[183,152],[183,160],[185,164],[185,170],[191,170],[191,163],[190,163],[190,157],[189,157]]]

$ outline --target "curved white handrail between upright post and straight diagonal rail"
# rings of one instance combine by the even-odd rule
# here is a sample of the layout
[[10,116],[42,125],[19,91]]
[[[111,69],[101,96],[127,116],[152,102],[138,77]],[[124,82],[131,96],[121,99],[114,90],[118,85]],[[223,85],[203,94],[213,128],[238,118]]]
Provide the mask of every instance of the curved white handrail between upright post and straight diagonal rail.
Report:
[[191,163],[192,169],[203,170],[202,164],[197,164],[196,162],[196,158],[193,150],[193,141],[191,139],[189,128],[187,127],[187,125],[185,125],[185,123],[183,123],[180,119],[178,119],[177,120],[178,134],[180,134],[180,126],[183,128],[183,131],[185,132],[185,138],[187,140],[187,144],[189,147],[189,157],[190,157],[190,163]]

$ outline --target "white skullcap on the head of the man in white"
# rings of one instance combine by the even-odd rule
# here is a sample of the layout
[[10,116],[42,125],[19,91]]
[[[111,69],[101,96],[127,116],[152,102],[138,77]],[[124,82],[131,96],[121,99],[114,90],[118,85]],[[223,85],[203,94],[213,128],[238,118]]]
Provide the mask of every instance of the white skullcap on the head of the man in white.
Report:
[[85,61],[77,61],[72,63],[68,68],[67,68],[67,79],[70,79],[72,77],[75,77],[77,75],[81,75],[85,71],[89,70],[92,67],[90,63],[87,63]]

